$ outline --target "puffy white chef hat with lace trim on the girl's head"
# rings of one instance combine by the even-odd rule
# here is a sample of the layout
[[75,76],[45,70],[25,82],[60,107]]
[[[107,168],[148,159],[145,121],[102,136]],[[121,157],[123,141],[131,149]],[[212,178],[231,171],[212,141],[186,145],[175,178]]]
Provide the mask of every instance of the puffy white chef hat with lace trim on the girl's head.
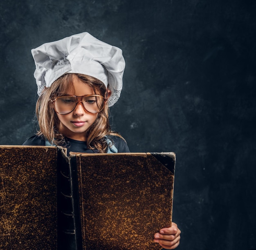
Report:
[[31,53],[38,95],[65,73],[90,75],[109,84],[109,106],[117,102],[123,86],[125,61],[121,49],[94,38],[87,32],[48,42]]

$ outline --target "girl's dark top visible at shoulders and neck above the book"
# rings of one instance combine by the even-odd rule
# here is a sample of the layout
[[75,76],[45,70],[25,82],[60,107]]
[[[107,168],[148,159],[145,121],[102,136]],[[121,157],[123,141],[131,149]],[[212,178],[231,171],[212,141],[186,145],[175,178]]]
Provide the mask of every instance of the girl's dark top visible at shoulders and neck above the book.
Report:
[[[128,148],[128,145],[126,142],[118,137],[113,135],[108,135],[108,138],[112,141],[112,143],[115,145],[115,147],[118,150],[118,153],[130,153],[130,150]],[[82,141],[73,140],[70,138],[65,137],[66,145],[63,145],[63,147],[67,148],[67,155],[69,155],[70,152],[79,152],[79,153],[98,153],[98,150],[92,150],[87,148],[87,143]],[[28,138],[23,145],[25,146],[45,146],[45,139],[38,135],[34,135],[30,138]]]

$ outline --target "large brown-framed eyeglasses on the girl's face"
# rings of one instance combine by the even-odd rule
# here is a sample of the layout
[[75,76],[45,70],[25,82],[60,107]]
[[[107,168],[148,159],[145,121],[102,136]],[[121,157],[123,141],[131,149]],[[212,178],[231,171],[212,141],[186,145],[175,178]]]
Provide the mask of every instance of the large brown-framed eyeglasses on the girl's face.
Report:
[[78,103],[81,103],[89,113],[96,114],[103,110],[106,101],[107,99],[101,95],[65,95],[51,100],[54,110],[61,115],[71,113]]

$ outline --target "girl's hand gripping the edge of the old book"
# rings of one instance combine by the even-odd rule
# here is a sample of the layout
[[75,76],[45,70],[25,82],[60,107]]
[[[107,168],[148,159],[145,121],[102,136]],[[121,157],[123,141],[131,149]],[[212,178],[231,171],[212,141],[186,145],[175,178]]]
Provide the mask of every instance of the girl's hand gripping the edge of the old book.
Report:
[[154,241],[165,249],[177,248],[180,244],[180,229],[172,222],[171,228],[162,228],[154,235]]

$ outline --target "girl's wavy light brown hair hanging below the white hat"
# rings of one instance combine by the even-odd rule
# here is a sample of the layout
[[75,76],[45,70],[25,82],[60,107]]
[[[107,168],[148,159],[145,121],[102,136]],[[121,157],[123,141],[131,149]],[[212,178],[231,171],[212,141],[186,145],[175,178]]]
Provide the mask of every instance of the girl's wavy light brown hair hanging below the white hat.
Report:
[[[65,135],[58,132],[60,121],[54,111],[51,99],[66,95],[74,90],[74,77],[78,77],[84,84],[88,84],[95,94],[106,97],[107,89],[103,82],[89,75],[67,73],[58,78],[50,87],[45,88],[36,103],[36,116],[39,125],[37,135],[44,137],[49,142],[53,142],[56,146],[65,146]],[[121,137],[118,133],[111,131],[108,111],[108,103],[106,102],[103,110],[98,113],[95,122],[85,132],[87,148],[97,149],[100,153],[105,153],[108,148],[104,138],[106,135]]]

